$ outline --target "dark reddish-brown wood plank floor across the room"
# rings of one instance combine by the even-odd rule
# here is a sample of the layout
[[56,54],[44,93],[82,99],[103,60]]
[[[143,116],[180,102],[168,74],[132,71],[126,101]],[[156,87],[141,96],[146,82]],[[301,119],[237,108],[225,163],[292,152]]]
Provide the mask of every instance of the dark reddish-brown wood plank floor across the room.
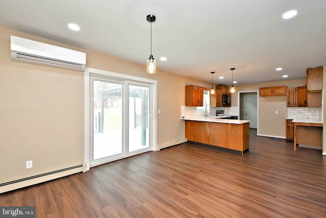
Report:
[[326,217],[320,150],[257,137],[238,153],[184,143],[0,195],[37,217]]

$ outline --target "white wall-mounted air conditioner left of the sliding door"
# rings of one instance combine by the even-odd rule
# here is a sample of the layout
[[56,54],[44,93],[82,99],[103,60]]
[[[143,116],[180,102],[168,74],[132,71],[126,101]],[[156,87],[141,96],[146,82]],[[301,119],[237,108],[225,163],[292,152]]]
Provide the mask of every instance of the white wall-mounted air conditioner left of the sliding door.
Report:
[[84,71],[86,53],[11,36],[11,59],[28,64]]

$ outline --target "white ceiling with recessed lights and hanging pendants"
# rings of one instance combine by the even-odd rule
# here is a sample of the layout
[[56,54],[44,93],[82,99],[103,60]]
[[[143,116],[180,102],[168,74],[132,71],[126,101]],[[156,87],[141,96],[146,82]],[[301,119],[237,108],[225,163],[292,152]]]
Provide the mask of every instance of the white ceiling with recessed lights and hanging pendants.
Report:
[[[283,20],[291,9],[298,15]],[[146,16],[154,14],[157,73],[211,82],[214,71],[214,83],[231,84],[235,67],[234,80],[246,84],[305,78],[307,68],[326,65],[325,9],[325,0],[0,0],[0,26],[130,60],[146,73]]]

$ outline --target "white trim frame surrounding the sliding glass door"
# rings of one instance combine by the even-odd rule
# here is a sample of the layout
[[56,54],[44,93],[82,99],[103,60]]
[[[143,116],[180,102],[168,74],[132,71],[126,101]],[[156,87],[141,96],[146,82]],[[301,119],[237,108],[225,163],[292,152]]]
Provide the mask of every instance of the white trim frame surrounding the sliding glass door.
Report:
[[118,73],[113,73],[113,72],[108,72],[108,71],[103,71],[103,70],[98,70],[98,69],[93,69],[93,68],[86,68],[84,71],[84,160],[86,163],[86,168],[87,170],[90,169],[90,143],[91,143],[91,137],[90,137],[90,124],[91,121],[90,119],[90,107],[93,107],[93,105],[90,105],[90,74],[92,75],[99,75],[99,76],[107,76],[111,78],[116,78],[116,79],[123,79],[123,80],[129,80],[129,81],[136,81],[136,82],[145,82],[145,83],[150,83],[153,86],[153,95],[151,99],[151,105],[152,107],[152,114],[151,119],[150,119],[150,124],[151,124],[151,135],[150,135],[150,144],[152,145],[152,149],[154,151],[158,150],[157,148],[157,81],[156,80],[151,80],[151,79],[146,79],[146,78],[141,78],[141,77],[135,77],[135,76],[130,76],[126,74],[118,74]]

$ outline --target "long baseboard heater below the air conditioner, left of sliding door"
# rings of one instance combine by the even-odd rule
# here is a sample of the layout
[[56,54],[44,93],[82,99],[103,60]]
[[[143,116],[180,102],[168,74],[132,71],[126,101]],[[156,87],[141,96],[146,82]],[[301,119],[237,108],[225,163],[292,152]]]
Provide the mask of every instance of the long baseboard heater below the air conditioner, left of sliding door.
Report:
[[86,163],[1,183],[0,193],[9,192],[15,189],[24,188],[26,186],[38,184],[41,182],[49,181],[52,179],[68,176],[79,172],[86,172]]

